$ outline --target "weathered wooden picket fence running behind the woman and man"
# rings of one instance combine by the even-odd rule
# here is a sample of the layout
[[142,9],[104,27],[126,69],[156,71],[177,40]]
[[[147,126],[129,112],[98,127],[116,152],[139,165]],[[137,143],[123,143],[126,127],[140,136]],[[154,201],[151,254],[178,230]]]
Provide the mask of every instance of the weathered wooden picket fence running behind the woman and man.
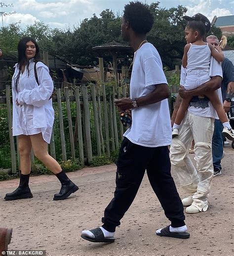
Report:
[[[68,87],[63,91],[57,88],[56,96],[52,98],[57,126],[54,124],[49,144],[49,152],[54,159],[63,161],[68,158],[79,159],[81,164],[90,164],[93,157],[101,155],[110,157],[111,153],[118,149],[126,128],[120,122],[114,99],[126,97],[128,87],[122,86],[118,90],[115,88],[115,86],[109,86],[106,92],[104,84],[80,85],[74,89],[73,95],[70,95],[71,91]],[[175,86],[170,87],[173,93],[177,89]],[[19,166],[19,153],[17,139],[12,136],[11,102],[10,85],[6,85],[6,96],[0,97],[0,103],[6,104],[7,108],[11,171],[16,173]],[[61,151],[61,154],[58,151]],[[32,169],[34,169],[33,152],[31,158]]]

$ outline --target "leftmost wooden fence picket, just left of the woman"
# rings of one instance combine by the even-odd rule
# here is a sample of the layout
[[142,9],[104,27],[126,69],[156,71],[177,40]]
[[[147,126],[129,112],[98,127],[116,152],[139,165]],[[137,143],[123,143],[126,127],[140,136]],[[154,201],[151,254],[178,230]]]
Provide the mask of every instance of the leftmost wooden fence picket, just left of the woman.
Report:
[[9,129],[9,138],[10,138],[11,171],[12,173],[16,173],[15,143],[14,143],[14,137],[12,136],[10,85],[6,85],[6,108],[7,108],[8,129]]

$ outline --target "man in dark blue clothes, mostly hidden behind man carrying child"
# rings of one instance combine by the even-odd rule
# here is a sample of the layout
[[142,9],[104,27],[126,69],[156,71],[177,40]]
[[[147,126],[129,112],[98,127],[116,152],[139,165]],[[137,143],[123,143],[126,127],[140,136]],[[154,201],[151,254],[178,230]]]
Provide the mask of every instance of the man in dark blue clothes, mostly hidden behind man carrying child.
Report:
[[[219,40],[216,36],[208,36],[207,43],[213,44],[215,47],[219,45]],[[225,58],[222,62],[223,81],[221,84],[223,106],[226,112],[231,106],[232,97],[234,96],[234,66],[233,63]],[[223,125],[220,120],[216,119],[214,124],[214,134],[212,138],[212,156],[214,176],[221,175],[221,159],[223,156]]]

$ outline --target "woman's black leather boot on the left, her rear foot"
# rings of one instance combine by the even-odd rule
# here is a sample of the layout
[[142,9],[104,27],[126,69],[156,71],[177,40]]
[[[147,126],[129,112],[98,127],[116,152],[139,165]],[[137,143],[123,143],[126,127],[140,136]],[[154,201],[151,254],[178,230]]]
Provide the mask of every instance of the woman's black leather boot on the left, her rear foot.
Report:
[[26,199],[32,198],[33,194],[29,188],[29,176],[30,174],[22,174],[20,173],[20,183],[15,191],[12,193],[7,193],[4,197],[5,200],[18,200],[18,199]]

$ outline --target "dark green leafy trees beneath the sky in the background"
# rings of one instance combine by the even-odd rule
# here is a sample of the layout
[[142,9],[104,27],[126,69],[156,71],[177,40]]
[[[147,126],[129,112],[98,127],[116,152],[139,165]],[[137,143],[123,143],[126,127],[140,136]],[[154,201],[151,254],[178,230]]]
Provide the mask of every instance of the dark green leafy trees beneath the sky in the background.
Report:
[[[187,9],[182,5],[169,9],[159,7],[159,2],[149,4],[154,15],[154,26],[148,35],[148,41],[153,43],[162,59],[163,66],[174,69],[180,65],[185,45],[183,19]],[[72,63],[83,66],[97,65],[98,53],[92,47],[121,39],[121,16],[106,9],[100,17],[93,14],[79,25],[67,29],[51,29],[42,21],[27,26],[25,29],[19,23],[13,23],[0,29],[0,46],[3,51],[16,51],[17,43],[22,36],[31,36],[37,40],[41,50],[48,50],[51,55],[58,55]],[[221,31],[212,27],[211,34],[221,37]],[[129,59],[127,56],[124,56]],[[131,56],[130,56],[131,57]],[[112,61],[111,54],[105,56],[106,64]]]

